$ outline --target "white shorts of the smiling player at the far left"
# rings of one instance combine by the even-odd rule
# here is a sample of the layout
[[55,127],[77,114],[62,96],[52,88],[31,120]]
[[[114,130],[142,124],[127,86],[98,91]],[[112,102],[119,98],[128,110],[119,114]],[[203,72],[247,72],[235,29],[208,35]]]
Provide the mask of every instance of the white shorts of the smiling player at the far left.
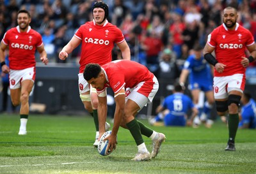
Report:
[[23,80],[31,80],[35,82],[35,67],[21,69],[21,70],[10,70],[10,89],[19,89]]

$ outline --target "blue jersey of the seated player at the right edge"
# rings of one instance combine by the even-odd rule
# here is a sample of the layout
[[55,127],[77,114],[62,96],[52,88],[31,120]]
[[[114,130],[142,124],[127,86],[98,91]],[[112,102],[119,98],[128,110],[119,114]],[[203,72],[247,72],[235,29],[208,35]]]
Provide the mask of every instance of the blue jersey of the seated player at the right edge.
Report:
[[249,103],[241,108],[241,121],[239,122],[239,127],[243,124],[249,124],[250,129],[255,129],[256,127],[256,103],[253,99],[250,99]]

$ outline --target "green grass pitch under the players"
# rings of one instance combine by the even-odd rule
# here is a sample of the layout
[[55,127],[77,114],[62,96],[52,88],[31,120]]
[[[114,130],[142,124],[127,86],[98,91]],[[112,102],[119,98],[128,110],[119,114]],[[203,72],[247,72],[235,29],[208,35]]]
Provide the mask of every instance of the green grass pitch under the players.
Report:
[[92,117],[29,115],[28,134],[19,136],[19,115],[1,114],[0,173],[256,173],[255,130],[239,130],[236,152],[227,152],[227,126],[220,120],[211,129],[152,128],[167,140],[155,159],[136,162],[136,144],[122,127],[116,150],[100,156]]

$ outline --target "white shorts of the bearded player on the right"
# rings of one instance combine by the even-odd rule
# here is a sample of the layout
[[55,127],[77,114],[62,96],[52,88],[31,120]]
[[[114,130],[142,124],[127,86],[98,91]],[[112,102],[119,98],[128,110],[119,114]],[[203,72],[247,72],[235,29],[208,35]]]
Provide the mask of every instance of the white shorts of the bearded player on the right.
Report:
[[243,93],[245,86],[245,75],[235,74],[231,76],[215,76],[213,78],[213,89],[215,99],[228,98],[228,92],[240,91]]

